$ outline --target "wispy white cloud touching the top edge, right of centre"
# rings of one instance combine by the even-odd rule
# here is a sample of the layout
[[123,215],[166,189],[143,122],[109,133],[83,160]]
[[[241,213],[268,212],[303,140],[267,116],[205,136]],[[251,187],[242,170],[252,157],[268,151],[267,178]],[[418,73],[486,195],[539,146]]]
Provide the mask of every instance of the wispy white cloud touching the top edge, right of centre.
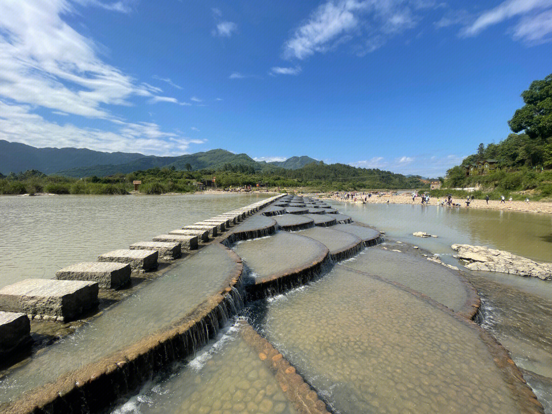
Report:
[[311,13],[284,43],[285,59],[305,59],[336,49],[354,38],[358,55],[374,51],[392,36],[413,28],[412,10],[433,7],[420,0],[328,0]]

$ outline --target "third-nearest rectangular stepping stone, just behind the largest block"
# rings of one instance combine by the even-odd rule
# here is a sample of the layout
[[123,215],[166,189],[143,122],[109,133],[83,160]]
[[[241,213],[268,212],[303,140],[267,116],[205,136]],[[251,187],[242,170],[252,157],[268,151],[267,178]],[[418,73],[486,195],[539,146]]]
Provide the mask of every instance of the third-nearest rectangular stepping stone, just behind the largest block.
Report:
[[90,280],[100,289],[116,289],[130,282],[128,263],[82,262],[57,270],[57,280]]

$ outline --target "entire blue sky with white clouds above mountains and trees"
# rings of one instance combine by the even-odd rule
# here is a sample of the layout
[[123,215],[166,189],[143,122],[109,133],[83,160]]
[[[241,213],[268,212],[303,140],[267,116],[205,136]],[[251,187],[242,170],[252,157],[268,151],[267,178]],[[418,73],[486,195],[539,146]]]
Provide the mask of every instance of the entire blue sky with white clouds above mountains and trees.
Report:
[[437,176],[552,72],[552,0],[0,0],[0,139]]

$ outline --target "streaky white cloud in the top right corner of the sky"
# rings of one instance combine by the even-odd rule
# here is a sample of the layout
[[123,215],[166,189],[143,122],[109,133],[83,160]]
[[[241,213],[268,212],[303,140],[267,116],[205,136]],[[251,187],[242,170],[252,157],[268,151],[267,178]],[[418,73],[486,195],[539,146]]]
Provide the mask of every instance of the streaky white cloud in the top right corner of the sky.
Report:
[[[514,29],[514,38],[527,41],[542,40],[552,31],[550,19],[552,0],[506,0],[495,8],[481,13],[475,21],[461,30],[463,36],[475,36],[491,25],[501,23],[517,16],[526,16]],[[535,14],[548,9],[547,13]],[[536,18],[536,28],[530,27]]]

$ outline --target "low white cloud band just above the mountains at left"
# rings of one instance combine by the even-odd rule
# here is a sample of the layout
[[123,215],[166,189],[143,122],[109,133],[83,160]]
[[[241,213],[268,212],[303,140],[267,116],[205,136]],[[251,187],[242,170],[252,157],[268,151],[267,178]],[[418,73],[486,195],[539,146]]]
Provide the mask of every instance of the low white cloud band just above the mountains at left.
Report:
[[189,139],[163,132],[154,123],[128,123],[114,120],[115,131],[56,124],[31,112],[30,105],[7,104],[0,100],[0,139],[23,142],[36,147],[76,147],[97,151],[144,152],[153,155],[180,155],[190,144],[204,140]]

